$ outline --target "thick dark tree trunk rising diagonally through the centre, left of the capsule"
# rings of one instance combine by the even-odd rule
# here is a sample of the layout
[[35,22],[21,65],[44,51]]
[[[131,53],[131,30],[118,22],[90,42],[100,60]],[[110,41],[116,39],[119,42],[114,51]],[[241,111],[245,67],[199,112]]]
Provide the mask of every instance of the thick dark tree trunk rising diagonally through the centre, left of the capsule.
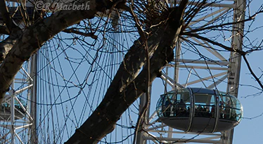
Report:
[[[107,133],[113,131],[117,120],[120,119],[122,113],[127,110],[129,105],[146,92],[146,83],[148,82],[146,81],[146,75],[148,72],[150,72],[150,83],[153,79],[160,76],[162,67],[174,58],[173,48],[181,30],[182,15],[187,2],[187,0],[182,1],[179,8],[174,8],[170,13],[165,33],[157,50],[150,58],[150,70],[147,70],[146,65],[140,74],[134,77],[132,82],[122,87],[123,91],[115,91],[113,95],[106,95],[94,113],[79,129],[76,129],[66,144],[98,143]],[[123,63],[125,63],[125,60]],[[108,91],[113,90],[108,89]]]

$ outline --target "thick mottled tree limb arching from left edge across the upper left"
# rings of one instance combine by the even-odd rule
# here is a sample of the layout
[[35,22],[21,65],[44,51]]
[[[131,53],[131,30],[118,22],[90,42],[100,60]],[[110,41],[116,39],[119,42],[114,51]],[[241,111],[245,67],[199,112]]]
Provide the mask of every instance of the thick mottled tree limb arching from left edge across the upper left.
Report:
[[[82,0],[79,3],[84,4]],[[89,1],[90,9],[85,11],[59,11],[44,20],[27,27],[21,37],[17,39],[11,51],[8,52],[0,66],[0,103],[9,89],[15,74],[20,70],[25,60],[28,60],[36,51],[58,32],[74,25],[86,18],[94,18],[98,11],[110,8],[115,1]]]

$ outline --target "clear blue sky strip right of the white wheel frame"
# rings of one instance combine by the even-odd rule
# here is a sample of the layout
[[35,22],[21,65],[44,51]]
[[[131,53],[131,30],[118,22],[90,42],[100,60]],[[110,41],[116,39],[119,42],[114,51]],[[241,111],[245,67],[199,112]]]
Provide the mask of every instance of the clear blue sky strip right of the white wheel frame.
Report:
[[[251,3],[250,11],[253,13],[256,11],[259,6],[262,5],[262,1],[254,0]],[[255,19],[255,23],[253,27],[262,26],[263,15],[257,15]],[[248,25],[245,25],[248,27]],[[258,39],[258,41],[262,41],[262,28],[251,32],[249,35],[250,39]],[[254,70],[255,74],[259,77],[262,74],[262,51],[255,51],[248,55],[248,60],[250,61],[250,65],[252,70]],[[250,72],[248,71],[248,67],[245,65],[244,61],[242,61],[242,67],[240,71],[240,84],[250,84],[253,86],[259,87],[259,85],[252,79]],[[245,96],[251,95],[253,93],[259,92],[256,89],[253,89],[250,86],[240,86],[238,98],[243,105],[244,110],[244,119],[240,122],[238,126],[236,126],[233,143],[263,143],[263,117],[260,116],[263,112],[262,102],[263,102],[263,94],[259,96],[250,96],[244,98]],[[246,119],[257,117],[255,119]]]

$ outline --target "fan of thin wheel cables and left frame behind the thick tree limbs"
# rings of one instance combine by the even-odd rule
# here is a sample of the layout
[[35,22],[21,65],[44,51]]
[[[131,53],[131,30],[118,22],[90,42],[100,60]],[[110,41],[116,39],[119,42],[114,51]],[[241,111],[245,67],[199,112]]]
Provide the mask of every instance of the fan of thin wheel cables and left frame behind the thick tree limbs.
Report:
[[[12,111],[13,114],[9,112],[13,109],[8,109],[13,120],[9,114],[0,122],[3,143],[64,143],[68,140],[99,105],[124,54],[136,40],[136,28],[130,26],[134,25],[132,22],[129,16],[120,18],[120,12],[115,10],[110,16],[108,12],[97,13],[93,20],[82,20],[76,26],[83,33],[96,32],[96,36],[62,32],[47,41],[37,55],[23,65],[11,91],[6,93],[3,105],[14,107],[15,111],[16,104],[11,105],[11,98],[15,99],[14,103],[21,100],[25,102],[20,106],[25,114],[23,111],[22,117],[21,112]],[[92,27],[88,24],[94,25],[94,31],[89,32]],[[115,130],[100,143],[132,143],[138,110],[138,104],[131,105]],[[134,120],[131,117],[135,117]]]

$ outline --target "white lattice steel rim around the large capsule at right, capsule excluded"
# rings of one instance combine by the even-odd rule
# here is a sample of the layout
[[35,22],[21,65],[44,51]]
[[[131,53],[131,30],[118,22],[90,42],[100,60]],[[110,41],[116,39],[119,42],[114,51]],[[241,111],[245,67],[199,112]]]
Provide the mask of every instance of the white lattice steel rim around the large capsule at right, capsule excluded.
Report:
[[[197,4],[200,1],[196,1]],[[209,2],[209,1],[207,1]],[[177,5],[179,1],[167,1],[167,4]],[[189,3],[189,5],[194,3]],[[220,22],[233,22],[228,27],[229,33],[220,30],[199,33],[202,37],[216,39],[234,49],[242,50],[245,19],[245,0],[214,1],[207,3],[206,13],[201,13],[193,18],[189,30],[196,27],[210,27],[219,25]],[[229,20],[229,21],[227,21]],[[220,36],[220,37],[217,37]],[[216,37],[216,38],[215,38]],[[192,41],[192,42],[190,42]],[[231,144],[233,141],[233,129],[222,133],[198,133],[179,131],[163,124],[158,119],[155,109],[156,93],[163,85],[167,93],[173,89],[200,87],[205,89],[218,89],[231,96],[238,97],[238,84],[240,77],[240,55],[235,52],[224,51],[211,41],[196,37],[181,37],[175,48],[175,58],[172,63],[162,70],[162,80],[153,82],[151,93],[151,105],[144,119],[146,123],[141,126],[137,143],[222,143]],[[156,85],[156,87],[155,87]],[[141,104],[145,103],[145,96],[141,97]]]

